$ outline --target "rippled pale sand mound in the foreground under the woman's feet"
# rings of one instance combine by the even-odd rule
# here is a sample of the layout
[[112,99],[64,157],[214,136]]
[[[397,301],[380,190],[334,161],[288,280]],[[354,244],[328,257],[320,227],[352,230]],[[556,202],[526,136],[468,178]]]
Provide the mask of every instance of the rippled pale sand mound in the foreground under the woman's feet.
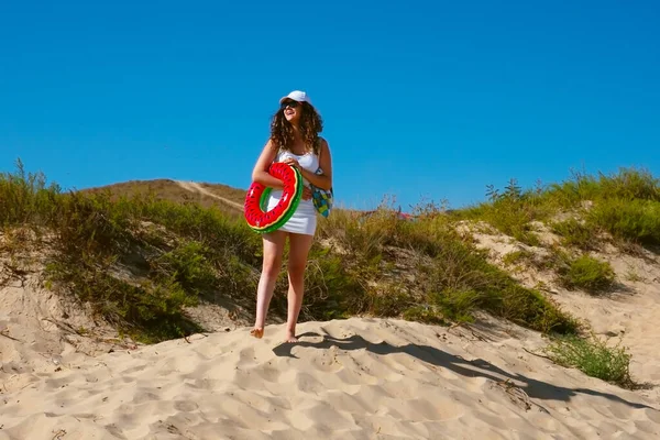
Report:
[[658,402],[496,329],[353,318],[302,323],[296,345],[271,326],[80,359],[2,394],[0,439],[660,437]]

